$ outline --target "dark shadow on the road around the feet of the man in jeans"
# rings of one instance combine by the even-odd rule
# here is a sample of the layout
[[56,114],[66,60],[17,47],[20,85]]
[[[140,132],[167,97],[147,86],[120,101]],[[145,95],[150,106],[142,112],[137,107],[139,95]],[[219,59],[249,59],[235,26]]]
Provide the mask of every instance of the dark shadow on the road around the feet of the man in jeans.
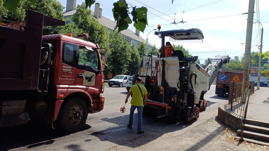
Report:
[[[142,130],[144,130],[145,133],[137,134],[137,113],[134,114],[134,123],[132,129],[128,129],[126,126],[128,124],[128,120],[129,115],[119,116],[110,119],[103,119],[103,121],[113,123],[115,124],[115,126],[92,133],[90,135],[98,137],[98,139],[101,141],[110,141],[112,143],[120,144],[122,146],[135,148],[149,143],[153,140],[156,140],[163,134],[179,131],[192,125],[183,124],[179,120],[175,120],[174,118],[170,118],[167,116],[143,114]],[[141,139],[143,139],[143,141],[141,141]]]

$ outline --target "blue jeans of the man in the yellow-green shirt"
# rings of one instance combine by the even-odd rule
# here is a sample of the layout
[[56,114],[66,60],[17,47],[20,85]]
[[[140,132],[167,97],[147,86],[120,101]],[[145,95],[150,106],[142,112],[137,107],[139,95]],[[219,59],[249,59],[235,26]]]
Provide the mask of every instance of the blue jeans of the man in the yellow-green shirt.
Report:
[[129,125],[133,125],[133,116],[134,116],[134,110],[137,108],[137,117],[138,117],[138,123],[137,123],[137,131],[141,131],[142,128],[142,113],[143,113],[143,106],[134,106],[131,105],[130,109],[130,118],[129,118]]

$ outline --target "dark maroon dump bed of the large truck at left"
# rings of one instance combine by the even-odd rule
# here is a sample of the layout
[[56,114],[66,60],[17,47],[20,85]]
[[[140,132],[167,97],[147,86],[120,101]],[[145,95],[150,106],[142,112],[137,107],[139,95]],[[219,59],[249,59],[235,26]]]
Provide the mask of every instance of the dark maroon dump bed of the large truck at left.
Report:
[[[37,90],[43,26],[65,22],[26,11],[26,21],[0,25],[0,90]],[[12,26],[18,25],[18,26]]]

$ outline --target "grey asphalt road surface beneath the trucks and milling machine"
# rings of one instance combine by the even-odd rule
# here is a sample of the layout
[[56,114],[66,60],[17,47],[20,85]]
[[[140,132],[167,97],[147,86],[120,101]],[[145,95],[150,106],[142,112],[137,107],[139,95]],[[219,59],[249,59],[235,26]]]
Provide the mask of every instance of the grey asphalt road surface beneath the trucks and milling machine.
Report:
[[85,126],[79,132],[62,134],[48,129],[42,121],[0,128],[0,151],[5,150],[256,150],[258,146],[231,138],[234,133],[217,119],[219,103],[227,103],[228,95],[215,95],[215,86],[205,94],[208,99],[206,111],[198,121],[183,124],[168,117],[143,115],[144,134],[136,134],[137,113],[134,114],[132,129],[126,125],[131,107],[130,99],[124,106],[125,87],[105,87],[105,108],[89,114]]

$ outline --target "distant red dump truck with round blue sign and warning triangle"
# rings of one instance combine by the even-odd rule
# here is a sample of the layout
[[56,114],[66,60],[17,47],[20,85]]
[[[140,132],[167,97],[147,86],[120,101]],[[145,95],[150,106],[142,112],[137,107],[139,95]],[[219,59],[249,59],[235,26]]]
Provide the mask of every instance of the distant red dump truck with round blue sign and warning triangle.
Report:
[[223,71],[220,71],[216,77],[215,94],[224,96],[224,94],[229,93],[231,81],[242,82],[242,80],[243,71],[223,69]]

